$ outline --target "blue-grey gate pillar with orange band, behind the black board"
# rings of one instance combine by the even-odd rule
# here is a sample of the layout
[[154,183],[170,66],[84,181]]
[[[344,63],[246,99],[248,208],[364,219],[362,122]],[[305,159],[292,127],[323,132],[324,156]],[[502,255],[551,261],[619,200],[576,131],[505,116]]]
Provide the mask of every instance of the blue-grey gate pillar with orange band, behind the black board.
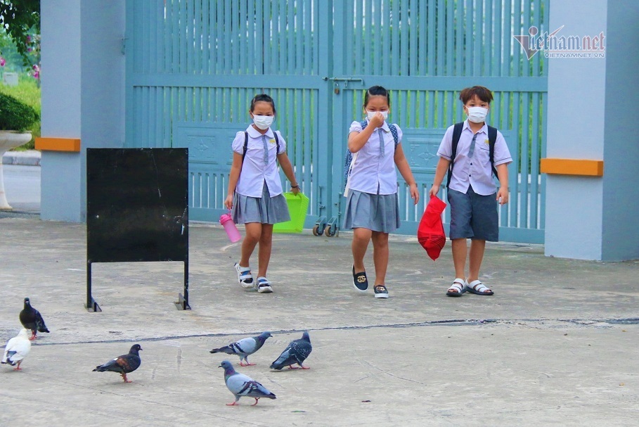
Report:
[[86,219],[86,148],[124,146],[124,0],[41,2],[41,218]]

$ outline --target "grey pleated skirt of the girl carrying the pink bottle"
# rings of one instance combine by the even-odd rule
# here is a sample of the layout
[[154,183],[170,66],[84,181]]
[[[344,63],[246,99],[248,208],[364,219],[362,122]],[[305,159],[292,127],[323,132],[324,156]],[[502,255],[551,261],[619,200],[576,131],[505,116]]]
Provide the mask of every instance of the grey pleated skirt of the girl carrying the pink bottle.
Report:
[[231,217],[233,217],[235,224],[246,224],[247,222],[277,224],[278,222],[290,221],[286,199],[281,194],[271,197],[266,181],[262,187],[262,197],[243,196],[235,193]]

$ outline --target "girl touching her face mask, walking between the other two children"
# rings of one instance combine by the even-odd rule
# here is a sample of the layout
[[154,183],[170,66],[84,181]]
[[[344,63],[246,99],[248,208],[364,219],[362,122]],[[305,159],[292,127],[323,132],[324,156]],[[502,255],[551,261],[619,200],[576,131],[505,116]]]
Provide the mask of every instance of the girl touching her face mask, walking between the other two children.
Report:
[[[419,191],[411,167],[401,148],[401,129],[385,121],[390,110],[390,96],[381,86],[373,86],[364,96],[366,127],[352,122],[348,147],[357,157],[349,177],[349,193],[344,209],[343,229],[353,229],[353,285],[358,291],[368,289],[364,255],[373,240],[375,264],[375,298],[388,298],[385,286],[388,267],[388,234],[399,227],[399,202],[395,165],[411,188],[415,204]],[[394,129],[391,129],[391,127]],[[397,133],[395,144],[393,132]]]

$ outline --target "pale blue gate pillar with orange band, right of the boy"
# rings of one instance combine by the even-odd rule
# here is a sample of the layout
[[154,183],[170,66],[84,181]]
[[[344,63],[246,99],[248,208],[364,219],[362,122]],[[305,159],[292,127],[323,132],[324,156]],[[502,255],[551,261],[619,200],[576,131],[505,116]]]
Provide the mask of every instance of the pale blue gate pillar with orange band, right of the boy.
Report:
[[638,1],[550,1],[546,255],[639,258],[638,22]]

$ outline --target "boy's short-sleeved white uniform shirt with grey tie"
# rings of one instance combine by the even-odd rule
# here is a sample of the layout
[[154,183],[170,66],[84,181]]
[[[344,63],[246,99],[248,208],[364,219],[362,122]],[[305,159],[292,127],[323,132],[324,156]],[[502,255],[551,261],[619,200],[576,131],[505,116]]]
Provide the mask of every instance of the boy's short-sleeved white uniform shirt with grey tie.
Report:
[[[451,160],[453,154],[453,127],[448,127],[444,138],[441,139],[437,155],[446,160]],[[472,129],[468,125],[468,120],[464,121],[462,133],[459,137],[456,158],[453,160],[453,175],[451,177],[450,188],[461,193],[468,191],[468,186],[472,185],[473,191],[482,196],[489,196],[496,193],[497,186],[493,180],[491,169],[490,147],[488,141],[488,126],[484,123],[482,129],[477,132],[475,140],[475,152],[472,158],[468,158],[470,143],[472,142]],[[495,167],[503,163],[512,162],[510,151],[506,145],[501,132],[497,131],[495,140],[495,153],[493,154]]]

